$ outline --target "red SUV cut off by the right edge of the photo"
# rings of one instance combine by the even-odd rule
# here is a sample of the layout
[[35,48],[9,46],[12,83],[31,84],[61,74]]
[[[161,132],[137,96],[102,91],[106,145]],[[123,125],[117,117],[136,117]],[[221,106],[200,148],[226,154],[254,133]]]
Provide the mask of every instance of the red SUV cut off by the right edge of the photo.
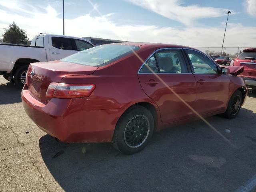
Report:
[[239,76],[245,80],[246,85],[256,87],[256,48],[244,49],[230,65],[243,66],[244,72]]

